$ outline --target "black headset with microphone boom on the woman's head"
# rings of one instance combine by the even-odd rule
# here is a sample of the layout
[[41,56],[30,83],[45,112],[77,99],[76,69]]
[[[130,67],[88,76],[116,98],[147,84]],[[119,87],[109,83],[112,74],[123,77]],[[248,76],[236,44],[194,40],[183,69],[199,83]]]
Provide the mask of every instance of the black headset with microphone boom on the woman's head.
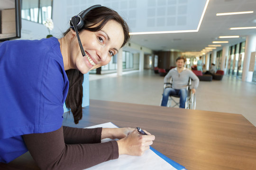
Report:
[[79,43],[79,46],[80,46],[80,50],[82,52],[82,56],[84,57],[85,56],[85,51],[83,50],[83,47],[82,47],[82,42],[80,40],[80,37],[79,37],[79,34],[78,32],[81,31],[84,27],[84,16],[91,10],[91,9],[94,9],[94,8],[98,8],[98,7],[101,7],[101,5],[93,5],[91,6],[90,8],[87,8],[85,9],[84,11],[80,12],[77,16],[74,16],[70,19],[70,22],[69,22],[69,26],[71,29],[75,30],[75,33],[76,33],[76,36],[77,36],[77,40],[78,40],[78,43]]

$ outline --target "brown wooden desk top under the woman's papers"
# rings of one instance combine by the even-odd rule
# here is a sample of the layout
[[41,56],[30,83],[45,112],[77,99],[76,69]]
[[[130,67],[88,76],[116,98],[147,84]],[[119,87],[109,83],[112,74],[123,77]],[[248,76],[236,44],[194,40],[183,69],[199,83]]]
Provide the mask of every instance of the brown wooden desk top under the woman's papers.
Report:
[[[72,115],[64,115],[63,124],[88,127],[110,121],[119,127],[139,126],[154,134],[152,147],[187,170],[256,167],[256,127],[240,114],[91,100],[78,125]],[[29,154],[25,156],[8,166],[22,167],[23,162],[29,169],[33,161]]]

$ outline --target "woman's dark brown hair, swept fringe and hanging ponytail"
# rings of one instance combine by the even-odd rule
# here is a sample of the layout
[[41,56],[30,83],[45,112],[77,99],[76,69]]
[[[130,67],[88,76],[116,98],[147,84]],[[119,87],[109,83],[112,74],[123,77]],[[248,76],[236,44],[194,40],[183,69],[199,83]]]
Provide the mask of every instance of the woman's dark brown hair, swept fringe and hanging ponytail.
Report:
[[[85,30],[89,30],[92,32],[100,31],[105,24],[110,20],[117,21],[122,27],[124,31],[124,42],[121,47],[123,47],[126,42],[128,42],[129,35],[129,27],[127,23],[123,20],[119,14],[107,7],[99,7],[90,10],[85,17],[84,20],[84,28]],[[95,26],[99,24],[98,26]],[[68,29],[64,36],[70,31]],[[83,82],[83,74],[77,69],[69,69],[66,70],[66,74],[69,80],[69,89],[66,98],[66,107],[70,109],[73,113],[74,123],[78,124],[79,120],[82,119],[82,82]]]

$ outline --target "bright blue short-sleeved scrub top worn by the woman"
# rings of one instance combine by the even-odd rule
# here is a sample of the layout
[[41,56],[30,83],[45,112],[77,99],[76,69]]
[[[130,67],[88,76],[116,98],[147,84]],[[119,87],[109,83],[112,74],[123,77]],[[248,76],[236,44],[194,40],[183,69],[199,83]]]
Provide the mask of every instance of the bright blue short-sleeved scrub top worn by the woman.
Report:
[[55,37],[0,43],[0,162],[27,152],[22,135],[62,126],[68,85]]

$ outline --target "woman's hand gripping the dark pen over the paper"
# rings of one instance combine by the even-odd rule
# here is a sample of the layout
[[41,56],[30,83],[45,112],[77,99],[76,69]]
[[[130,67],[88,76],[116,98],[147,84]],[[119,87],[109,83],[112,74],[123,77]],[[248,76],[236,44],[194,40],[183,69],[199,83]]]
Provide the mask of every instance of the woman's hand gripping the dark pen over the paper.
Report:
[[141,156],[146,150],[149,149],[149,145],[153,144],[155,136],[148,133],[148,135],[140,135],[137,130],[133,130],[127,137],[117,141],[120,154]]

